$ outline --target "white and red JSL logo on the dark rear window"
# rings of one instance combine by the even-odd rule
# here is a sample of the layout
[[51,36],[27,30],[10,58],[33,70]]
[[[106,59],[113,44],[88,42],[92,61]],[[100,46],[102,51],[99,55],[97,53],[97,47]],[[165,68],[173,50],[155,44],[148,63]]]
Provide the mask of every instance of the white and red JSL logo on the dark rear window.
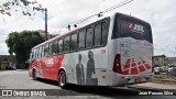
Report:
[[144,33],[144,26],[140,25],[140,24],[129,24],[129,29],[133,32],[138,32],[138,33]]

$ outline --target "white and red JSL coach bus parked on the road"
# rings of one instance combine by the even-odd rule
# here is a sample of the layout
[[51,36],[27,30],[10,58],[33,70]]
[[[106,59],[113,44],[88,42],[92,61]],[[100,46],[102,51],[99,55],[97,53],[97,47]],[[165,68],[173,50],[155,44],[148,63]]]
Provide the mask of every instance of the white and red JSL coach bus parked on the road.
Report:
[[153,78],[151,25],[122,13],[101,16],[32,48],[33,79],[84,86],[124,86]]

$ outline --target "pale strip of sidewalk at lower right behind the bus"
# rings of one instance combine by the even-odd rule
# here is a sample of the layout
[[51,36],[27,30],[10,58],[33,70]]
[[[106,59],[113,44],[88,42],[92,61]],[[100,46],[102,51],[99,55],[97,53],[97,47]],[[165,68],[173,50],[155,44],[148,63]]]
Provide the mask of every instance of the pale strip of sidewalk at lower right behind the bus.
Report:
[[174,89],[174,90],[176,90],[176,85],[155,84],[155,82],[136,84],[136,85],[130,85],[129,87],[148,88],[148,89]]

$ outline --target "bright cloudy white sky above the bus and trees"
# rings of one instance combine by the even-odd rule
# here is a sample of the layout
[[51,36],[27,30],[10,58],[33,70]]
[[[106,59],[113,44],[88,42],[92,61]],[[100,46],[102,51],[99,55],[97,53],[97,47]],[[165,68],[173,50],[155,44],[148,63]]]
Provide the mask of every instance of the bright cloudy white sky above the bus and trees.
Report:
[[[2,3],[6,0],[0,0]],[[61,25],[103,11],[125,0],[36,0],[48,12],[48,32],[58,34]],[[152,25],[154,55],[176,56],[176,0],[134,0],[112,12],[131,14]],[[1,4],[0,4],[1,6]],[[44,13],[25,16],[12,10],[12,15],[0,14],[0,55],[9,55],[6,38],[10,32],[44,30]]]

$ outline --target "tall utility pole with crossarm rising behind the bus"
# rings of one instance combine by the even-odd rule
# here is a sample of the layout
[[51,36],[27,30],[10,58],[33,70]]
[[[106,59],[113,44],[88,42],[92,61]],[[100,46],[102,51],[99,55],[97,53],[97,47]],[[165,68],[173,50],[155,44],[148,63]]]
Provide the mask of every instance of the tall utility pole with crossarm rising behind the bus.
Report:
[[45,41],[47,41],[47,8],[33,8],[33,10],[45,12]]

